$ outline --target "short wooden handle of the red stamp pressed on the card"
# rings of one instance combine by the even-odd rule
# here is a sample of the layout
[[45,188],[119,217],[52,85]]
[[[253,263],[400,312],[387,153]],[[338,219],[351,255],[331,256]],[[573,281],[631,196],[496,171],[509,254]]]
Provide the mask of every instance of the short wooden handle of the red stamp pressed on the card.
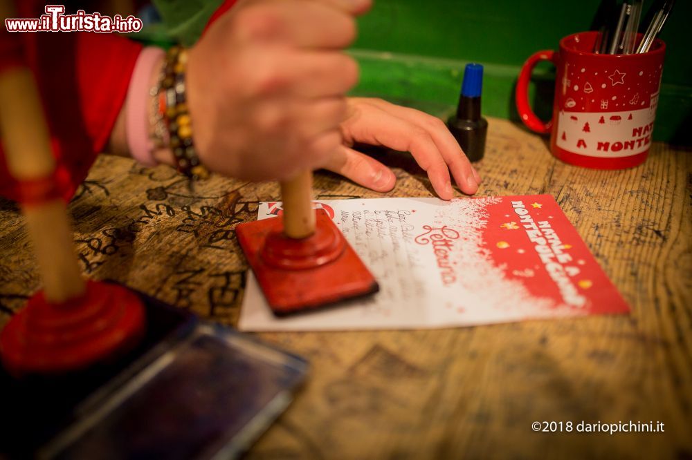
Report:
[[307,238],[315,233],[312,209],[312,171],[304,171],[281,182],[284,202],[284,234],[289,238]]

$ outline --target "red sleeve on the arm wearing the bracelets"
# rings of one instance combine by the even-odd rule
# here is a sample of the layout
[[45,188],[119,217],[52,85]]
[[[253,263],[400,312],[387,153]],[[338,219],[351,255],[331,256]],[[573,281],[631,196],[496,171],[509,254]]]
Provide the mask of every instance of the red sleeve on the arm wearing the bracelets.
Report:
[[[233,3],[235,0],[226,0],[209,24]],[[43,12],[42,6],[32,7],[34,1],[15,4],[18,17],[35,18]],[[2,26],[0,72],[16,64],[33,70],[51,132],[57,176],[64,184],[64,198],[69,200],[109,140],[142,46],[115,34],[10,34]],[[0,142],[0,195],[16,199],[15,183]]]

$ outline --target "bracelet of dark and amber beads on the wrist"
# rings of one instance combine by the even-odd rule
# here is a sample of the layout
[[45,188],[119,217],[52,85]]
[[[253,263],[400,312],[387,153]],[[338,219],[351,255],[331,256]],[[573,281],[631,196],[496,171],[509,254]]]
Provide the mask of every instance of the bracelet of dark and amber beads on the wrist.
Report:
[[185,99],[185,48],[173,46],[166,53],[159,92],[159,110],[168,129],[168,143],[178,171],[191,179],[206,179],[209,171],[199,162],[192,141],[192,122]]

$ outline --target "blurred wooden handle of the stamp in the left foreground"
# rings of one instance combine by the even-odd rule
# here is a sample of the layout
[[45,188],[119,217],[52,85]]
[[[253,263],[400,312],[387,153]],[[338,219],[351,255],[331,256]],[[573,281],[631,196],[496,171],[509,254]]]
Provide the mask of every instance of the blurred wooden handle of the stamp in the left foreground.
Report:
[[[17,180],[47,178],[55,171],[50,136],[35,80],[28,68],[0,74],[0,136],[8,171]],[[33,241],[46,300],[63,303],[84,294],[65,203],[22,206]]]

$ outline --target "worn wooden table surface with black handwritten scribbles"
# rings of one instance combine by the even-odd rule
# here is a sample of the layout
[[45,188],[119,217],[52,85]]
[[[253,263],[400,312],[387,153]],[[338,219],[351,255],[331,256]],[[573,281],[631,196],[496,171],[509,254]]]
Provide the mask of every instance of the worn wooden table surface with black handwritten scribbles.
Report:
[[[410,155],[385,196],[430,196]],[[646,164],[591,171],[545,139],[490,120],[478,195],[553,195],[630,315],[461,329],[259,334],[311,361],[307,385],[251,459],[692,457],[692,155],[654,144]],[[318,198],[379,193],[318,173]],[[102,155],[69,206],[86,276],[111,278],[233,325],[246,263],[233,231],[276,184],[187,182]],[[12,202],[0,201],[0,324],[39,287]],[[3,395],[8,397],[9,395]],[[659,433],[534,432],[534,421],[664,423]]]

